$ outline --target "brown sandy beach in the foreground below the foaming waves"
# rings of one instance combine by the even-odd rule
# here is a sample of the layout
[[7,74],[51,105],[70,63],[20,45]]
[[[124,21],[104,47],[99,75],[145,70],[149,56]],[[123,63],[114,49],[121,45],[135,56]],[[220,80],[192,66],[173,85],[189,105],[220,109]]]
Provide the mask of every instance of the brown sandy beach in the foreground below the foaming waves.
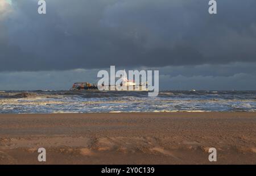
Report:
[[256,164],[256,113],[1,114],[0,164]]

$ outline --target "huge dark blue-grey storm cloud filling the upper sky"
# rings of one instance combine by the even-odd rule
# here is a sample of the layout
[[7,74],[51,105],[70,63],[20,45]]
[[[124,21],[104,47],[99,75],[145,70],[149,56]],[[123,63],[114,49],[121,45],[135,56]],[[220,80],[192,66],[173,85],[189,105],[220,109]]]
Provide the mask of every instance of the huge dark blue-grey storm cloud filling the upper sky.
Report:
[[13,0],[0,71],[255,62],[256,1],[217,3],[209,15],[204,0],[54,0],[39,15],[37,1]]

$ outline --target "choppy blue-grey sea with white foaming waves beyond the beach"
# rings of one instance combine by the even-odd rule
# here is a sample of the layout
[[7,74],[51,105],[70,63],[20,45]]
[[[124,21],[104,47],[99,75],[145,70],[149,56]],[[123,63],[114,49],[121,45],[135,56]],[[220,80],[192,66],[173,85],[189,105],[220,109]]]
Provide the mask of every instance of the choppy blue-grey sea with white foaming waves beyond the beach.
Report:
[[256,111],[256,91],[0,91],[0,113]]

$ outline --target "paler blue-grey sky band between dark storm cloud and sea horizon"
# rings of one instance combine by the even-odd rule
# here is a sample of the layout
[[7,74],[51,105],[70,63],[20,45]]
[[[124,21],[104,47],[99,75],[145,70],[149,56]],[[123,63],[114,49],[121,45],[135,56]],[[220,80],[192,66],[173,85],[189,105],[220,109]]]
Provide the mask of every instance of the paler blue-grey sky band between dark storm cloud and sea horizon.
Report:
[[[256,90],[256,65],[165,66],[159,70],[160,90]],[[109,68],[104,68],[109,70]],[[123,69],[123,67],[116,68]],[[135,68],[126,68],[126,71]],[[136,68],[152,69],[152,68]],[[218,70],[218,72],[216,72]],[[0,90],[68,90],[73,82],[97,83],[98,69],[0,72]]]

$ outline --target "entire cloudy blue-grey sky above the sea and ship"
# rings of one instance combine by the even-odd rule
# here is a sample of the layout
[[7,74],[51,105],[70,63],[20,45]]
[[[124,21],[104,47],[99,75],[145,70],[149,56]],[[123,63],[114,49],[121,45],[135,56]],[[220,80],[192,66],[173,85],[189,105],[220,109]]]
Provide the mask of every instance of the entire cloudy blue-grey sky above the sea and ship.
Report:
[[256,1],[0,0],[0,90],[157,69],[160,89],[256,90]]

